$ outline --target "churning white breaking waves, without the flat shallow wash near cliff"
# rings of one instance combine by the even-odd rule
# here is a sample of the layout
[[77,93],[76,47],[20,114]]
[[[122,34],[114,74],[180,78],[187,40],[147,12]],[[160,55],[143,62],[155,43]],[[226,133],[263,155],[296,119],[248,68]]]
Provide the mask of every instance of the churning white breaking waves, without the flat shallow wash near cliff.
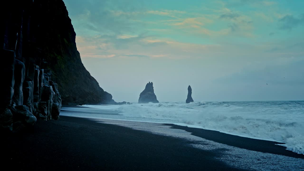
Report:
[[127,117],[171,120],[171,123],[282,142],[288,150],[304,154],[304,116],[300,110],[286,111],[280,105],[148,103],[123,105],[116,111]]

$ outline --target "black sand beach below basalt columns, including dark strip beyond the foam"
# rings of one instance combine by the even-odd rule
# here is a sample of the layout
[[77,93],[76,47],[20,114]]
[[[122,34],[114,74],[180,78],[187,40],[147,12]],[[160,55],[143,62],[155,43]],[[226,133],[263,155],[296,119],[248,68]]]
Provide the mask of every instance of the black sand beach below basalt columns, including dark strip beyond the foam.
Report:
[[[250,138],[246,141],[246,138],[223,136],[217,131],[172,126],[203,138],[207,135],[214,141],[234,141],[229,145],[237,147],[253,146]],[[216,159],[225,149],[201,150],[189,146],[191,142],[185,139],[84,118],[61,116],[59,121],[39,120],[30,129],[30,133],[4,136],[2,167],[21,170],[241,170]],[[266,148],[271,141],[258,141],[262,152],[304,158],[278,145]],[[254,149],[255,146],[251,148]]]

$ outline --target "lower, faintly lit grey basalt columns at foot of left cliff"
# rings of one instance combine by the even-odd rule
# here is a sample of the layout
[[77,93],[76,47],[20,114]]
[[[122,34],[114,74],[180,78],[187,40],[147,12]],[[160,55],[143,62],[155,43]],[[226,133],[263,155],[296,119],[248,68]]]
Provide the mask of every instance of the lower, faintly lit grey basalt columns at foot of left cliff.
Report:
[[[13,40],[14,38],[7,35],[8,42]],[[27,61],[24,58],[26,53],[22,53],[23,56],[21,56],[22,51],[18,51],[16,47],[15,51],[6,48],[12,49],[9,44],[4,44],[1,49],[4,60],[0,64],[0,72],[5,76],[2,79],[0,127],[15,131],[24,126],[33,125],[37,117],[45,120],[58,119],[61,98],[57,91],[57,84],[49,81],[51,72],[43,74],[43,69],[39,70],[38,65],[34,65],[32,69],[27,68],[24,65]]]

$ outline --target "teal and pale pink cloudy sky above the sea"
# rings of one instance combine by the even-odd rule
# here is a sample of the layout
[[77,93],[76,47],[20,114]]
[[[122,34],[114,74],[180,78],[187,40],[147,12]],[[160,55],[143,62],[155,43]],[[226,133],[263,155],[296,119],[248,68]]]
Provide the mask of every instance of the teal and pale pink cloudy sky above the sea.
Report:
[[302,0],[64,0],[82,63],[117,102],[304,100]]

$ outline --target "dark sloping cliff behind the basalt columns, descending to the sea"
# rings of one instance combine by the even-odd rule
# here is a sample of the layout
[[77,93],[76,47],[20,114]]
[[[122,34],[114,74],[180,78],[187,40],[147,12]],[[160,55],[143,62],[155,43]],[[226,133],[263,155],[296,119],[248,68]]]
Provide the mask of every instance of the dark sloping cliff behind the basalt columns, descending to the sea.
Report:
[[62,103],[110,103],[112,95],[99,87],[81,62],[74,28],[62,0],[35,0],[32,20],[41,57],[58,83]]

